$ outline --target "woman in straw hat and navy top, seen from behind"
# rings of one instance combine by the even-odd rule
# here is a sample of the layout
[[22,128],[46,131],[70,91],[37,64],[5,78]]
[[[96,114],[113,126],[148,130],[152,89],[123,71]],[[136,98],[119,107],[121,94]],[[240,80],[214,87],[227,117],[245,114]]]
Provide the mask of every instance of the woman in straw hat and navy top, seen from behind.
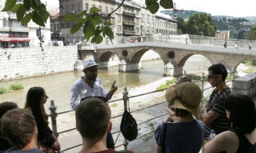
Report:
[[202,93],[192,82],[171,86],[165,94],[169,107],[178,120],[163,123],[155,131],[156,153],[198,153],[205,137],[204,126],[193,118],[199,118]]

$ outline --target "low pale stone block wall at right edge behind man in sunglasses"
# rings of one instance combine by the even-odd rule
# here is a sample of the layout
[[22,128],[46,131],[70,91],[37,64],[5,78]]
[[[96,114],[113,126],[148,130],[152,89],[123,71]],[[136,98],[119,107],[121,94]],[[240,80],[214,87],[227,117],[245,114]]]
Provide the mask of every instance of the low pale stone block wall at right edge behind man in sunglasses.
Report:
[[236,78],[234,81],[233,94],[254,96],[256,94],[256,72]]

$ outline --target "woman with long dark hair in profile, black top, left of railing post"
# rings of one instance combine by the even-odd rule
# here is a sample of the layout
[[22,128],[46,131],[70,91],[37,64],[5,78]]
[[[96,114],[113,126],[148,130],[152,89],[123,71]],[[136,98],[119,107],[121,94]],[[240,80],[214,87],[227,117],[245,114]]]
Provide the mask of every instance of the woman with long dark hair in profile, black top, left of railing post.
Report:
[[58,139],[49,128],[48,115],[45,112],[44,104],[48,96],[42,87],[32,87],[28,90],[25,109],[30,108],[36,120],[38,128],[39,149],[43,152],[60,152]]

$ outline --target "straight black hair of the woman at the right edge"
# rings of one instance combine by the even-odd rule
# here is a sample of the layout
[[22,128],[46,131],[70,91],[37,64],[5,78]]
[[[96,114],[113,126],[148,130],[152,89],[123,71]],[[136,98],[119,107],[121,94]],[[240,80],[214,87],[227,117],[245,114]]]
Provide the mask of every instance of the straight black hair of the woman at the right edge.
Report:
[[238,128],[243,134],[256,128],[256,109],[247,95],[230,95],[225,99],[225,108],[230,112],[229,128]]

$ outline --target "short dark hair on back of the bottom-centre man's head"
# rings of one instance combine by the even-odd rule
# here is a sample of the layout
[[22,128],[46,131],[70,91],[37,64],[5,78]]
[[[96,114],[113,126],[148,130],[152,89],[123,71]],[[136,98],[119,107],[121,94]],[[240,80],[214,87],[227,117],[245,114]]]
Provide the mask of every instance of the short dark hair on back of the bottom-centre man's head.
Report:
[[88,98],[76,108],[76,126],[83,138],[97,142],[107,131],[109,106],[98,98]]

